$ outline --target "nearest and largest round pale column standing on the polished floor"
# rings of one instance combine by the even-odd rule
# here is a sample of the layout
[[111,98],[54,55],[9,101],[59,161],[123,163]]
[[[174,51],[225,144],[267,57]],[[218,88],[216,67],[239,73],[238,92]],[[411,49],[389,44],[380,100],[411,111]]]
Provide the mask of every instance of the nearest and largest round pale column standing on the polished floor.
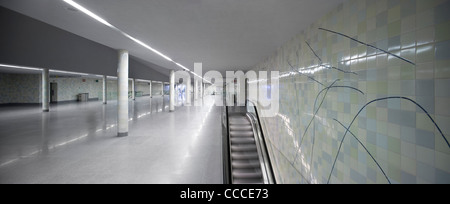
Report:
[[128,136],[128,51],[126,50],[119,50],[117,77],[117,135],[125,137]]

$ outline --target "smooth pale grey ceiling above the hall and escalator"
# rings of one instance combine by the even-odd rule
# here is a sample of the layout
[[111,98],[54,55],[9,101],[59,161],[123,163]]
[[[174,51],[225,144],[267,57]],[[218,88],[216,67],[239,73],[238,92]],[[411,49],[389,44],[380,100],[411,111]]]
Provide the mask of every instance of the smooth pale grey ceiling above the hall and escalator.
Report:
[[[174,61],[203,71],[247,70],[344,0],[75,0]],[[70,11],[62,0],[0,5],[167,69],[173,63],[120,33]]]

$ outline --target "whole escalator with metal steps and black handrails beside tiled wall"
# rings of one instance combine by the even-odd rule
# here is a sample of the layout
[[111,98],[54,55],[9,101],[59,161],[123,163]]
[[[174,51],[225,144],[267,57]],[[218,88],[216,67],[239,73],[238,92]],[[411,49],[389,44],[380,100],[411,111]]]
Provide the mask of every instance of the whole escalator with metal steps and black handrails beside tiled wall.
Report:
[[275,183],[257,114],[245,107],[226,107],[224,120],[225,183]]

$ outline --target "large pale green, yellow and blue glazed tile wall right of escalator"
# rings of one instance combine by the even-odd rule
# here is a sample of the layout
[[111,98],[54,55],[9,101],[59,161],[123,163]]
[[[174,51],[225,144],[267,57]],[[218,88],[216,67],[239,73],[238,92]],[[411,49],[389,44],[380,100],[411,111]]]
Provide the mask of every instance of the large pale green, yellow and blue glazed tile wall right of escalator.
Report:
[[350,0],[255,66],[281,72],[263,119],[277,181],[450,183],[448,11]]

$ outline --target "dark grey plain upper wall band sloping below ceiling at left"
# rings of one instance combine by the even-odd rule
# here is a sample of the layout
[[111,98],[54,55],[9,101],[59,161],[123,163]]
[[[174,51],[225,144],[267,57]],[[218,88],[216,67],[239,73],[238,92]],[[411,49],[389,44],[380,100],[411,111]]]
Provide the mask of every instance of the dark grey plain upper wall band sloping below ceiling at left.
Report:
[[[0,63],[90,74],[117,75],[117,51],[0,7]],[[130,77],[169,77],[130,58]]]

